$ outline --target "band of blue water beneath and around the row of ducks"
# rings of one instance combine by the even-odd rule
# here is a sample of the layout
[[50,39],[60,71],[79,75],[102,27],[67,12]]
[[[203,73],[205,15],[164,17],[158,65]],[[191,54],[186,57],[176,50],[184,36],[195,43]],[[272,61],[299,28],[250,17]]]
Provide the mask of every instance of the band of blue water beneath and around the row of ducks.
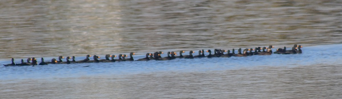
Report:
[[[291,45],[288,45],[290,47]],[[276,48],[282,46],[276,46]],[[216,70],[234,70],[240,68],[251,68],[256,66],[310,66],[310,65],[341,65],[342,44],[304,46],[303,54],[279,55],[272,54],[266,56],[247,56],[230,58],[195,58],[195,59],[174,59],[168,61],[124,61],[111,63],[80,63],[80,64],[49,64],[38,66],[1,66],[0,79],[44,79],[44,78],[69,78],[82,76],[118,76],[140,74],[140,73],[158,73],[158,72],[202,72]],[[212,49],[205,49],[212,50]],[[227,50],[227,49],[224,49]],[[165,51],[166,52],[166,51]],[[179,52],[179,51],[175,51]],[[183,55],[187,55],[185,51]],[[198,55],[195,51],[193,55]],[[128,54],[128,53],[127,53]],[[205,53],[206,55],[208,53]],[[118,55],[118,54],[115,54]],[[104,55],[98,55],[101,59]],[[140,59],[145,56],[144,53],[136,53],[134,59]],[[166,54],[162,54],[165,57]],[[66,57],[66,56],[64,56]],[[40,58],[36,57],[38,63]],[[44,57],[49,61],[57,57]],[[78,56],[76,60],[82,60],[85,56]],[[90,58],[92,60],[92,58]],[[26,59],[24,59],[26,60]],[[64,61],[65,59],[63,59]],[[71,60],[71,59],[70,59]],[[20,63],[20,59],[15,59]],[[1,64],[11,63],[10,59],[0,60]]]

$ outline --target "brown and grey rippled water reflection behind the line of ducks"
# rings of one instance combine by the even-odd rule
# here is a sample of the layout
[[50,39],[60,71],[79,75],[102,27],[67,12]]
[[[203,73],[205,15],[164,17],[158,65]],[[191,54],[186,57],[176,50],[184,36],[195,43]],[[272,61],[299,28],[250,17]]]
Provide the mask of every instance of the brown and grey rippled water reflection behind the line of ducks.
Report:
[[0,59],[341,43],[339,0],[0,1]]

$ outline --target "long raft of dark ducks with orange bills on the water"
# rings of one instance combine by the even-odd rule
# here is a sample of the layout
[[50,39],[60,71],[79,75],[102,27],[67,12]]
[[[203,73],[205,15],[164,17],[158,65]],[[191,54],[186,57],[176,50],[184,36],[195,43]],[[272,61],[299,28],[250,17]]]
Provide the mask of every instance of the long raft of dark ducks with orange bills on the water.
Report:
[[[184,51],[180,51],[179,52],[179,56],[175,56],[177,55],[176,52],[168,52],[167,53],[167,57],[161,57],[160,54],[163,54],[163,52],[155,52],[155,53],[146,53],[146,57],[142,58],[142,59],[138,59],[136,61],[148,61],[148,60],[172,60],[172,59],[176,59],[176,58],[185,58],[185,59],[192,59],[192,58],[202,58],[202,57],[244,57],[244,56],[252,56],[252,55],[271,55],[271,54],[301,54],[302,53],[302,46],[301,45],[293,45],[291,50],[286,50],[286,47],[284,46],[284,48],[278,48],[276,50],[276,52],[272,52],[271,48],[274,48],[272,45],[268,46],[268,47],[255,47],[253,48],[246,48],[245,50],[243,50],[241,52],[241,48],[238,49],[238,53],[235,54],[235,50],[232,49],[232,53],[230,52],[230,50],[221,50],[221,49],[214,49],[214,54],[212,54],[211,50],[207,50],[206,52],[209,53],[209,55],[205,56],[204,54],[204,50],[200,50],[198,51],[198,55],[193,56],[192,54],[195,53],[193,51],[189,51],[189,55],[182,55],[182,53],[185,53]],[[266,51],[265,51],[266,50]],[[254,52],[252,52],[254,51]],[[225,52],[227,52],[226,54],[224,54]],[[116,55],[105,55],[105,59],[98,59],[100,57],[94,55],[93,56],[93,60],[90,60],[89,57],[91,57],[90,55],[86,56],[86,59],[83,60],[79,60],[76,61],[75,60],[75,56],[72,56],[71,58],[68,56],[66,57],[66,61],[62,61],[62,59],[64,58],[63,56],[59,56],[58,57],[58,61],[53,58],[51,59],[51,62],[44,62],[44,59],[41,58],[41,62],[38,64],[37,59],[36,58],[28,58],[26,62],[24,62],[24,60],[21,60],[20,64],[16,64],[14,63],[14,58],[12,58],[12,63],[11,64],[7,64],[4,66],[29,66],[29,65],[48,65],[48,64],[71,64],[71,63],[98,63],[98,62],[116,62],[116,61],[134,61],[133,59],[133,55],[135,55],[134,53],[130,53],[130,58],[127,58],[127,55],[122,55],[119,54],[118,58],[119,59],[114,59],[115,57],[117,57]],[[110,58],[110,59],[109,59]],[[71,61],[69,59],[72,59]],[[32,62],[30,62],[32,61]]]

